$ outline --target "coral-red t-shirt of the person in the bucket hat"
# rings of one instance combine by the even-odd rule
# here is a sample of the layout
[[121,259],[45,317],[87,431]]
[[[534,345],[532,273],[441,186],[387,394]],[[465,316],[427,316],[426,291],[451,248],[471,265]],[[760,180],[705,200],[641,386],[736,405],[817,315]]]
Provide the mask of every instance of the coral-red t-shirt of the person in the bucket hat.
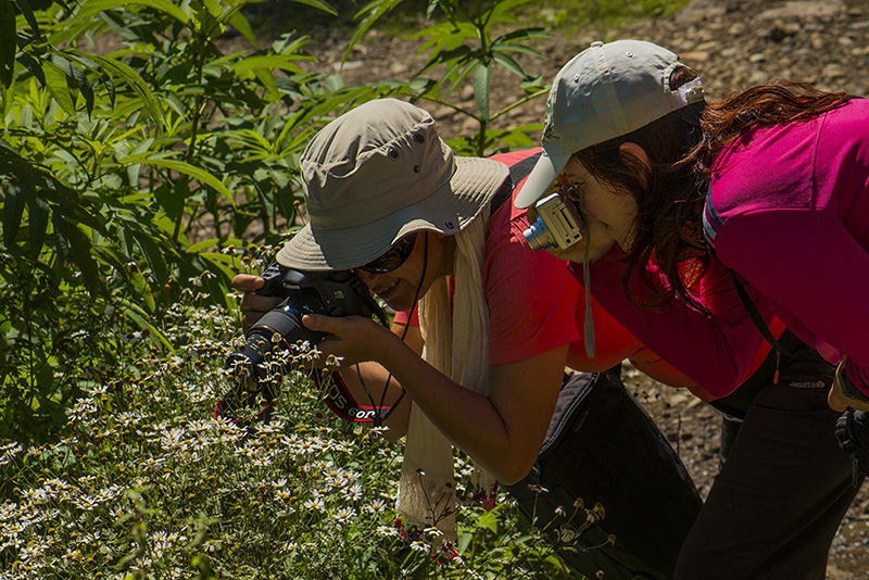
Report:
[[[516,151],[491,159],[512,166],[539,151]],[[514,188],[514,198],[522,185],[524,179]],[[567,365],[576,370],[605,370],[628,358],[662,382],[694,387],[594,301],[596,356],[589,358],[583,337],[584,290],[568,272],[566,262],[528,247],[522,236],[527,228],[526,211],[515,207],[512,199],[489,219],[482,276],[489,306],[490,364],[513,363],[569,344]],[[408,314],[399,313],[395,321],[407,324]],[[413,319],[411,324],[418,323]],[[698,394],[708,400],[702,392]]]

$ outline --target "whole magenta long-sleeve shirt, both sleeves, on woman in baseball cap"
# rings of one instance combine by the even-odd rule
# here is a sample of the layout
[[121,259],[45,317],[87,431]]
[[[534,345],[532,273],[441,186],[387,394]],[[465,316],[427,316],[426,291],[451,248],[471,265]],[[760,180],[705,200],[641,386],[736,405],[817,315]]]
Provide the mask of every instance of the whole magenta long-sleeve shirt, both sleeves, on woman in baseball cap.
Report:
[[[848,377],[869,393],[869,101],[752,130],[714,169],[705,222],[717,259],[695,288],[711,316],[681,301],[635,307],[617,248],[591,266],[595,299],[723,396],[747,378],[764,340],[733,289],[733,268],[767,324],[774,314],[830,362],[846,354]],[[582,279],[580,264],[571,270]],[[642,283],[635,290],[640,300],[647,293]]]

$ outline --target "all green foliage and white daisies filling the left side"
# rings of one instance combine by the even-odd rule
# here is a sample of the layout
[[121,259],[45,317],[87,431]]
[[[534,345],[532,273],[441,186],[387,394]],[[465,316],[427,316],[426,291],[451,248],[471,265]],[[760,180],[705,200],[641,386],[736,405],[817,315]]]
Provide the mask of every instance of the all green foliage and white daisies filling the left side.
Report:
[[[429,18],[416,35],[426,65],[353,87],[316,72],[305,36],[261,46],[256,3],[0,0],[0,567],[125,580],[569,577],[508,501],[486,512],[458,497],[456,545],[396,525],[401,449],[338,423],[298,373],[259,432],[210,418],[239,328],[229,279],[262,272],[257,252],[270,257],[300,226],[299,156],[323,124],[394,94],[475,119],[451,141],[461,154],[536,144],[539,125],[492,128],[546,90],[522,64],[546,36],[520,25],[529,1],[408,2]],[[360,9],[345,54],[401,3]],[[499,111],[496,72],[525,94]],[[468,85],[476,109],[455,104]]]

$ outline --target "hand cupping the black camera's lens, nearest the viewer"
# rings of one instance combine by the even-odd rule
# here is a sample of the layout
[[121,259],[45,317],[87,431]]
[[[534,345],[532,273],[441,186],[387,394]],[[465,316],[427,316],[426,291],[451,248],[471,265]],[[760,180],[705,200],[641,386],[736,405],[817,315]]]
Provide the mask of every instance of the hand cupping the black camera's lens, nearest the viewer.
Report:
[[389,328],[363,316],[306,314],[302,317],[302,324],[310,330],[329,335],[317,343],[322,354],[312,364],[318,368],[333,367],[327,364],[332,356],[340,358],[340,368],[369,361],[380,363],[392,341],[401,342]]

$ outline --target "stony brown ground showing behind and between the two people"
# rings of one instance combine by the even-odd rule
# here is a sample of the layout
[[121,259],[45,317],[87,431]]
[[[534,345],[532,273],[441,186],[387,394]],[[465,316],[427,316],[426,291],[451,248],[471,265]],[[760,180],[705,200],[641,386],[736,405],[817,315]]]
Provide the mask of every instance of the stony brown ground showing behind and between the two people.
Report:
[[[679,53],[701,73],[710,99],[723,97],[772,78],[813,83],[828,90],[869,96],[869,4],[865,0],[776,1],[695,0],[679,13],[620,29],[589,29],[571,38],[534,45],[544,60],[524,59],[529,73],[551,80],[564,63],[593,40],[637,38]],[[313,52],[317,67],[339,72],[347,84],[382,78],[407,79],[424,59],[418,45],[374,35],[340,70],[345,36],[318,35]],[[498,75],[493,110],[522,96],[516,77]],[[474,108],[473,94],[461,104]],[[420,103],[423,104],[423,103]],[[426,106],[425,104],[423,104]],[[539,99],[517,109],[495,128],[541,123],[545,102]],[[427,106],[444,137],[468,135],[474,123],[445,108]],[[679,451],[694,481],[706,493],[717,471],[718,414],[683,391],[667,388],[642,374],[629,381],[638,398]],[[828,578],[866,578],[869,571],[869,490],[864,487],[842,524],[830,552]]]

